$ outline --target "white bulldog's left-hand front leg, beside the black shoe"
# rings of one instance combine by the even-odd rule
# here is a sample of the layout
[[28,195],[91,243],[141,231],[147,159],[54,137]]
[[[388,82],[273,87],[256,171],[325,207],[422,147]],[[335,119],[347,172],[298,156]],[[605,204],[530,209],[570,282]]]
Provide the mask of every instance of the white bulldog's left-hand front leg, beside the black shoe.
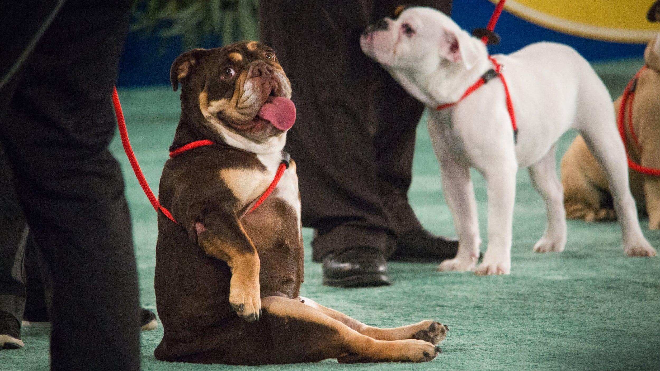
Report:
[[470,169],[457,163],[449,154],[438,154],[438,159],[442,170],[442,192],[451,211],[459,241],[456,257],[442,262],[438,270],[473,270],[479,258],[481,239]]

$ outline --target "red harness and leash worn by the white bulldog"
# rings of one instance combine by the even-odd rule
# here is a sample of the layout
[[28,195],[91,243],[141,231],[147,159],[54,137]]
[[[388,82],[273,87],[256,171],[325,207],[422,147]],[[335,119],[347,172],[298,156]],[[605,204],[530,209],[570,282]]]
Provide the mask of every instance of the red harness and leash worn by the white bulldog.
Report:
[[[489,34],[490,36],[495,36],[495,38],[498,38],[496,34],[493,33],[493,30],[495,29],[495,25],[497,24],[498,18],[500,18],[500,14],[502,14],[502,9],[504,8],[504,3],[506,0],[500,0],[500,2],[497,4],[495,7],[495,11],[493,12],[492,16],[490,16],[490,20],[488,21],[488,26],[486,26],[486,30],[479,30],[480,33],[485,33]],[[481,38],[481,41],[483,43],[488,43],[488,36],[483,36]],[[465,99],[465,97],[469,96],[470,94],[474,93],[477,89],[479,89],[481,86],[486,84],[488,81],[492,80],[493,78],[499,77],[500,80],[502,80],[502,86],[504,86],[504,95],[506,96],[506,110],[509,112],[509,117],[511,118],[511,126],[513,128],[513,141],[515,142],[518,137],[518,127],[515,123],[515,113],[513,112],[513,101],[511,100],[511,94],[509,94],[509,87],[506,84],[506,79],[504,78],[504,75],[502,74],[502,65],[499,65],[497,61],[490,55],[488,55],[488,59],[490,62],[493,64],[494,69],[490,69],[484,73],[477,82],[475,82],[472,86],[467,88],[465,90],[465,93],[463,93],[463,96],[458,101],[455,101],[453,103],[445,103],[438,105],[436,107],[436,111],[440,111],[442,109],[446,109],[449,107],[452,107],[453,105],[458,104],[460,101]]]

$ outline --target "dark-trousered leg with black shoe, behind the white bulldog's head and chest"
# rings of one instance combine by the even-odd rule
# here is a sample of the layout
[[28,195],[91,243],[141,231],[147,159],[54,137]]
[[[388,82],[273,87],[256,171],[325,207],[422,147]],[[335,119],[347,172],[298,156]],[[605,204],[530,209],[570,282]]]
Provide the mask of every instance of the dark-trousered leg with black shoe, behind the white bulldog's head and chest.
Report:
[[[418,0],[408,4],[434,7],[446,14],[451,12],[451,0]],[[393,16],[399,5],[400,1],[377,1],[372,22],[384,16]],[[434,236],[422,229],[408,202],[415,134],[424,105],[410,96],[383,69],[378,69],[370,89],[372,114],[378,122],[374,135],[378,188],[383,206],[399,237],[397,248],[390,258],[436,262],[453,258],[458,241]]]

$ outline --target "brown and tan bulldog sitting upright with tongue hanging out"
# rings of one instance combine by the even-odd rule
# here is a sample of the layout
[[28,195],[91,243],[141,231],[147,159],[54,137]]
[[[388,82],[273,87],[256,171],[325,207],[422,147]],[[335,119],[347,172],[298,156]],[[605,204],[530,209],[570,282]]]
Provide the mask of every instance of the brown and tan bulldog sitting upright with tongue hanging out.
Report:
[[275,364],[432,360],[446,326],[366,326],[298,296],[303,244],[296,165],[253,212],[282,162],[291,86],[258,42],[195,49],[172,65],[182,115],[165,164],[158,214],[159,360]]

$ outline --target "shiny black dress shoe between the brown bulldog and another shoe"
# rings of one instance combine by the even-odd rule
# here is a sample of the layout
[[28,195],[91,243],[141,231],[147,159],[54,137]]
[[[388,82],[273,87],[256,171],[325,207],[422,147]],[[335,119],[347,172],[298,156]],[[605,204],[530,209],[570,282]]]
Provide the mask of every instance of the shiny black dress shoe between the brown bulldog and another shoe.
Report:
[[323,263],[323,285],[366,287],[390,285],[383,252],[372,247],[353,247],[330,252]]

